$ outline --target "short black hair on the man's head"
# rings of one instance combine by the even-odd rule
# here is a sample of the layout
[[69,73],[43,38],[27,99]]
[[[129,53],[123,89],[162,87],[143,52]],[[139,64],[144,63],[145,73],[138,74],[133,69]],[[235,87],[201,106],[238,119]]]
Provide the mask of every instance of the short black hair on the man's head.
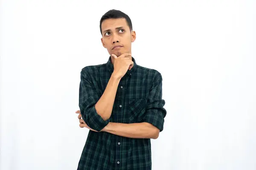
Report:
[[132,24],[131,24],[131,19],[130,17],[123,13],[122,11],[119,11],[119,10],[116,10],[116,9],[111,9],[109,10],[108,12],[106,12],[104,15],[102,15],[101,19],[100,19],[100,22],[99,22],[99,28],[100,28],[100,33],[102,34],[102,22],[104,20],[107,20],[107,19],[110,19],[110,18],[125,18],[129,28],[130,28],[130,31],[132,31]]

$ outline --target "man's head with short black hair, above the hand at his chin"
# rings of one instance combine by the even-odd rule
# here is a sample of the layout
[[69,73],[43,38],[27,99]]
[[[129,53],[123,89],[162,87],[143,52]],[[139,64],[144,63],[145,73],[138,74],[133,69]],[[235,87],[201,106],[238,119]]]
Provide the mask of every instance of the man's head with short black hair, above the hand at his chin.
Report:
[[107,48],[110,55],[116,54],[119,57],[124,53],[131,54],[131,42],[135,41],[136,33],[132,30],[131,19],[128,15],[112,9],[102,16],[99,26],[102,45]]

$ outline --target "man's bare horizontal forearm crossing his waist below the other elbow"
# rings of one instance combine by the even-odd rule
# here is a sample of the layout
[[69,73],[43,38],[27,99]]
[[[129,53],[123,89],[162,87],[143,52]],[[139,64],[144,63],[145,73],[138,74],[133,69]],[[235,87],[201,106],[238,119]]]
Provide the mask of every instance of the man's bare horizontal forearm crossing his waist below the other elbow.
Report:
[[157,139],[159,136],[159,129],[147,122],[131,124],[109,122],[102,131],[128,138]]

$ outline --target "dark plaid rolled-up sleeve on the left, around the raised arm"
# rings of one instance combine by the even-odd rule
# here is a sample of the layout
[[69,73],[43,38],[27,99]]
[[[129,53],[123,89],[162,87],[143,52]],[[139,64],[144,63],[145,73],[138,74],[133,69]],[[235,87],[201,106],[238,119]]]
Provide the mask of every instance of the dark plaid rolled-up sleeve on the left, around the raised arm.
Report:
[[96,91],[96,86],[92,82],[92,71],[81,70],[81,81],[79,85],[79,108],[84,122],[93,130],[100,131],[108,125],[110,119],[104,120],[96,112],[95,104],[100,96]]

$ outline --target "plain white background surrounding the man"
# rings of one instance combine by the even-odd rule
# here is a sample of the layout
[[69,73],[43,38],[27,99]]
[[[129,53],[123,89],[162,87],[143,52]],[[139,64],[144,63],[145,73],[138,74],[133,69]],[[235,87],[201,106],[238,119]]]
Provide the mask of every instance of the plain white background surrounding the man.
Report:
[[1,170],[76,170],[81,68],[107,62],[99,20],[131,17],[138,65],[163,76],[153,170],[256,170],[256,1],[2,0]]

